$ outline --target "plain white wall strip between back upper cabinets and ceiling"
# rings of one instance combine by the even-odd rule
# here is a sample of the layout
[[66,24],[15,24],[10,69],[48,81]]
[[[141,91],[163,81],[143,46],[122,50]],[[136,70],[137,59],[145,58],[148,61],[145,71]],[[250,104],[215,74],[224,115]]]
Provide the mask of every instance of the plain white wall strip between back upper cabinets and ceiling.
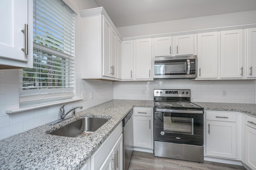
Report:
[[122,37],[136,37],[256,23],[256,10],[118,27]]

